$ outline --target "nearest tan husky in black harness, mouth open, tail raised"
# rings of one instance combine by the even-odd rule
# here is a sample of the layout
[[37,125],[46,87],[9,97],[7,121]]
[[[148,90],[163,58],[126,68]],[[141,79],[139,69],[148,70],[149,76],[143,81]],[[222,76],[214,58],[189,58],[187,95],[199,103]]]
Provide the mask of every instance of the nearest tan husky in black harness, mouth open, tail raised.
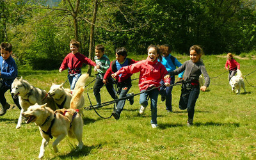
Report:
[[[84,87],[80,87],[74,94],[71,104],[79,104],[83,97]],[[76,101],[76,102],[75,102]],[[46,104],[30,106],[28,111],[22,113],[22,116],[28,118],[26,124],[35,122],[39,127],[40,134],[43,138],[38,158],[44,157],[45,147],[48,145],[50,138],[56,137],[52,143],[54,152],[58,152],[57,145],[65,136],[76,138],[78,149],[83,148],[83,119],[76,111],[77,106],[70,105],[70,109],[57,109],[55,112],[47,108]]]

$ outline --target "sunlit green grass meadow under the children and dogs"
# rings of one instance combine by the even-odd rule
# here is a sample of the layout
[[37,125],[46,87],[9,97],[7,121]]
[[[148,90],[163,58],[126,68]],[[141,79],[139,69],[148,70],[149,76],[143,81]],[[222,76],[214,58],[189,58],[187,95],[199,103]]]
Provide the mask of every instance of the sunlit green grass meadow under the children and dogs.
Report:
[[[185,55],[175,56],[180,62],[188,60]],[[134,59],[141,60],[141,57]],[[203,60],[210,77],[225,72],[225,55],[203,56]],[[236,60],[241,64],[244,76],[255,70],[255,60],[246,57]],[[19,70],[19,76],[47,91],[52,82],[60,84],[67,79],[67,73],[58,70]],[[211,79],[209,90],[200,92],[193,127],[186,126],[188,113],[178,108],[180,86],[174,86],[173,113],[166,112],[159,96],[157,129],[150,125],[149,106],[145,115],[138,115],[140,96],[136,96],[132,106],[126,102],[120,120],[102,119],[93,110],[84,110],[83,150],[76,152],[77,141],[65,138],[58,145],[60,152],[55,154],[51,147],[53,140],[50,140],[45,159],[256,159],[256,88],[245,82],[246,93],[242,90],[241,95],[236,95],[231,92],[227,76],[228,72]],[[138,74],[132,79],[136,77]],[[255,78],[256,72],[246,76],[254,86]],[[87,93],[95,104],[90,89],[93,84],[84,92],[85,107],[90,106]],[[139,93],[138,80],[132,84],[130,92]],[[65,88],[69,88],[68,82]],[[106,88],[100,93],[102,102],[111,100]],[[6,97],[13,104],[9,92]],[[113,106],[104,106],[97,111],[108,117]],[[20,129],[15,129],[18,117],[19,109],[14,108],[0,118],[0,159],[37,159],[42,141],[38,127],[23,123]]]

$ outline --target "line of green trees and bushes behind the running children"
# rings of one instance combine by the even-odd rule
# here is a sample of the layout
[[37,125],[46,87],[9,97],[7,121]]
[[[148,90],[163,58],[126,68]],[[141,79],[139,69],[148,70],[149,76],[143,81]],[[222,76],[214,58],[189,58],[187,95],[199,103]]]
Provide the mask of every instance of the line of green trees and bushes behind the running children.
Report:
[[0,0],[0,40],[19,65],[41,70],[60,67],[71,39],[89,58],[97,44],[113,55],[116,47],[146,54],[150,44],[239,54],[256,50],[255,9],[255,0]]

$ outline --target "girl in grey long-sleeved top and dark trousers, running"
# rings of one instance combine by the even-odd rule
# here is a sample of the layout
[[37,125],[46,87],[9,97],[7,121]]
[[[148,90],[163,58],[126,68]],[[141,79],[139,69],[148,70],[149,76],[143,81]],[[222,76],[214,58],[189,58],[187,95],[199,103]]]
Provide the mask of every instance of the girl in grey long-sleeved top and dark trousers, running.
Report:
[[[170,76],[177,75],[181,72],[184,72],[184,81],[189,81],[189,83],[184,83],[181,89],[179,108],[180,109],[188,109],[188,122],[187,125],[193,125],[193,118],[195,113],[195,104],[198,99],[200,90],[203,92],[210,84],[210,77],[207,74],[204,63],[200,60],[202,56],[202,49],[198,45],[193,45],[189,49],[190,59],[185,61],[181,67],[171,71],[168,76],[164,78],[168,78]],[[204,86],[199,86],[199,76],[203,74],[205,83]]]

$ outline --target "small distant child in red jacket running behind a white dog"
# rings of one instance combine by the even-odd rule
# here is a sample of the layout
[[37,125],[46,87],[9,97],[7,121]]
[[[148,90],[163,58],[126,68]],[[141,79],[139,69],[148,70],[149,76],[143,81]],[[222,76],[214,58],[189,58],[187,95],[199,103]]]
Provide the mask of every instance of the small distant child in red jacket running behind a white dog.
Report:
[[229,65],[229,74],[228,74],[228,81],[236,75],[236,70],[240,69],[240,64],[234,59],[234,55],[232,53],[227,54],[227,61],[225,64],[225,68],[228,70]]

